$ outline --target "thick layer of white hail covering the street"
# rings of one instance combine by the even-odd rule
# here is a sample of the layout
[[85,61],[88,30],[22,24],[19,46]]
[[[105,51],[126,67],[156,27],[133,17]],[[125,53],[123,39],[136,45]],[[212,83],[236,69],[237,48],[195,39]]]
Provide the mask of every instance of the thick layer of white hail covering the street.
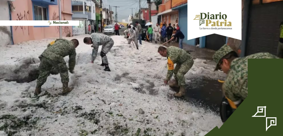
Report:
[[[47,91],[52,97],[43,95],[37,98],[33,95],[36,80],[29,83],[0,81],[0,116],[12,114],[20,119],[25,116],[40,118],[32,130],[23,128],[18,130],[17,135],[76,136],[82,130],[91,135],[91,131],[97,129],[94,135],[107,136],[120,130],[115,130],[114,127],[123,126],[128,128],[127,135],[135,134],[138,129],[141,129],[143,134],[145,129],[151,128],[155,130],[150,132],[153,135],[173,132],[174,136],[181,133],[190,136],[204,135],[216,126],[221,127],[222,121],[214,113],[167,97],[169,87],[163,86],[167,60],[158,55],[158,45],[143,42],[143,46],[136,50],[132,45],[128,45],[122,36],[112,36],[115,44],[106,55],[111,72],[105,72],[104,67],[100,66],[100,56],[97,56],[94,64],[89,63],[92,50],[90,45],[83,43],[83,38],[87,36],[89,35],[66,38],[76,38],[80,42],[76,49],[75,74],[69,73],[69,86],[74,86],[74,90],[68,95],[58,95],[62,91],[59,74],[50,75],[42,86],[41,95]],[[0,65],[16,67],[19,63],[17,60],[37,58],[52,40],[54,39],[42,39],[1,47]],[[100,50],[101,46],[99,52]],[[65,60],[68,62],[69,57],[65,57]],[[214,66],[205,64],[205,61],[195,59],[194,66],[185,75],[186,82],[198,76],[214,79],[223,77],[220,72],[212,74]],[[152,91],[156,92],[156,95],[150,95]],[[29,106],[29,109],[24,111],[18,107],[40,103],[46,103],[47,108]],[[75,106],[82,106],[83,109],[75,112]],[[144,114],[139,113],[140,109]],[[91,110],[100,114],[96,116],[100,121],[98,124],[77,117],[84,112],[90,113]],[[112,115],[109,114],[110,111]],[[0,124],[2,123],[3,120],[0,120]]]

